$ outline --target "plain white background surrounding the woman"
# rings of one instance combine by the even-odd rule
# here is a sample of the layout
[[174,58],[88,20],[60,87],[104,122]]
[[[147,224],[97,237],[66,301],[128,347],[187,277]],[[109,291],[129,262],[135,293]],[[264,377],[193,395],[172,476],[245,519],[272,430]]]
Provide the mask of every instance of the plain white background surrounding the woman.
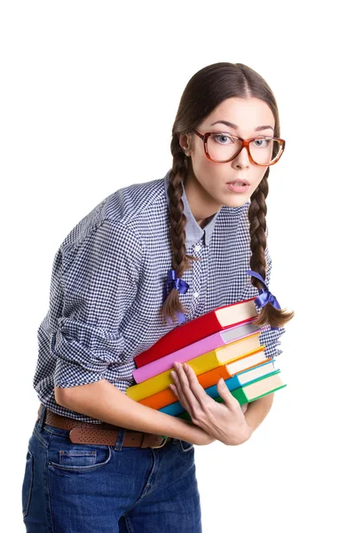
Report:
[[1,3],[3,530],[25,530],[36,330],[55,252],[107,195],[163,178],[185,84],[219,61],[254,68],[279,105],[270,290],[296,315],[278,360],[288,386],[263,424],[239,447],[196,447],[203,533],[355,529],[354,42],[348,3],[330,5]]

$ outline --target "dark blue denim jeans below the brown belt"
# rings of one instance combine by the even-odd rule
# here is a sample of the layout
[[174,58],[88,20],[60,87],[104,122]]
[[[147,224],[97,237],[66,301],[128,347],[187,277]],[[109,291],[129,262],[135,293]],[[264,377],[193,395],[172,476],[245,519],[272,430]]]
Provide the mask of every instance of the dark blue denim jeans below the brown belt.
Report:
[[22,513],[29,533],[201,533],[194,446],[74,444],[43,423],[28,442]]

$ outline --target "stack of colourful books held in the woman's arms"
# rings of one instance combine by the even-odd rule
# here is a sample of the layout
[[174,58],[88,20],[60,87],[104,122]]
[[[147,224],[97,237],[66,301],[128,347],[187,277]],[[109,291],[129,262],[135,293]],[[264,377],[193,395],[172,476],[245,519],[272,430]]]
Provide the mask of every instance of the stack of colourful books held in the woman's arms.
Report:
[[225,385],[242,405],[286,386],[274,358],[267,358],[260,333],[267,326],[256,326],[255,298],[217,307],[207,314],[185,322],[138,354],[133,371],[136,385],[126,394],[136,402],[169,415],[191,420],[170,389],[174,362],[188,364],[206,394],[224,402],[217,382]]

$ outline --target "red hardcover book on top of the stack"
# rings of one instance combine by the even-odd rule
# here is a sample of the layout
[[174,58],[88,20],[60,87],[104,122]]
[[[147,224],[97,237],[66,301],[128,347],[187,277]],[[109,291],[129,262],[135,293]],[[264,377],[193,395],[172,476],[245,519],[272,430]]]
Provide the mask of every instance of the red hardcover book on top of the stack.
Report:
[[218,331],[250,322],[257,317],[255,299],[248,298],[235,304],[217,307],[209,313],[202,314],[177,326],[174,330],[170,330],[148,350],[136,355],[134,361],[137,368],[148,364],[148,362],[156,361],[164,355],[172,354],[172,352],[185,348],[185,346],[189,346],[201,338],[209,337]]

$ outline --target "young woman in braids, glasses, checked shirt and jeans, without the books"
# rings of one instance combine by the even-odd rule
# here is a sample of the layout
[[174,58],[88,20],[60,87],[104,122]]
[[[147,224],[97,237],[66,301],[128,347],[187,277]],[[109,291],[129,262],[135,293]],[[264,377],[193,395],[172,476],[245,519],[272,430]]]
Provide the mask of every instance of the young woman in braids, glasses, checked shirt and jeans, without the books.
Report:
[[223,380],[216,402],[189,365],[171,383],[192,421],[125,394],[133,358],[185,321],[256,298],[273,357],[294,315],[269,290],[265,200],[285,140],[268,84],[241,63],[202,68],[170,147],[165,177],[107,196],[55,255],[22,486],[28,532],[201,532],[194,445],[246,442],[271,408],[273,394],[241,408]]

